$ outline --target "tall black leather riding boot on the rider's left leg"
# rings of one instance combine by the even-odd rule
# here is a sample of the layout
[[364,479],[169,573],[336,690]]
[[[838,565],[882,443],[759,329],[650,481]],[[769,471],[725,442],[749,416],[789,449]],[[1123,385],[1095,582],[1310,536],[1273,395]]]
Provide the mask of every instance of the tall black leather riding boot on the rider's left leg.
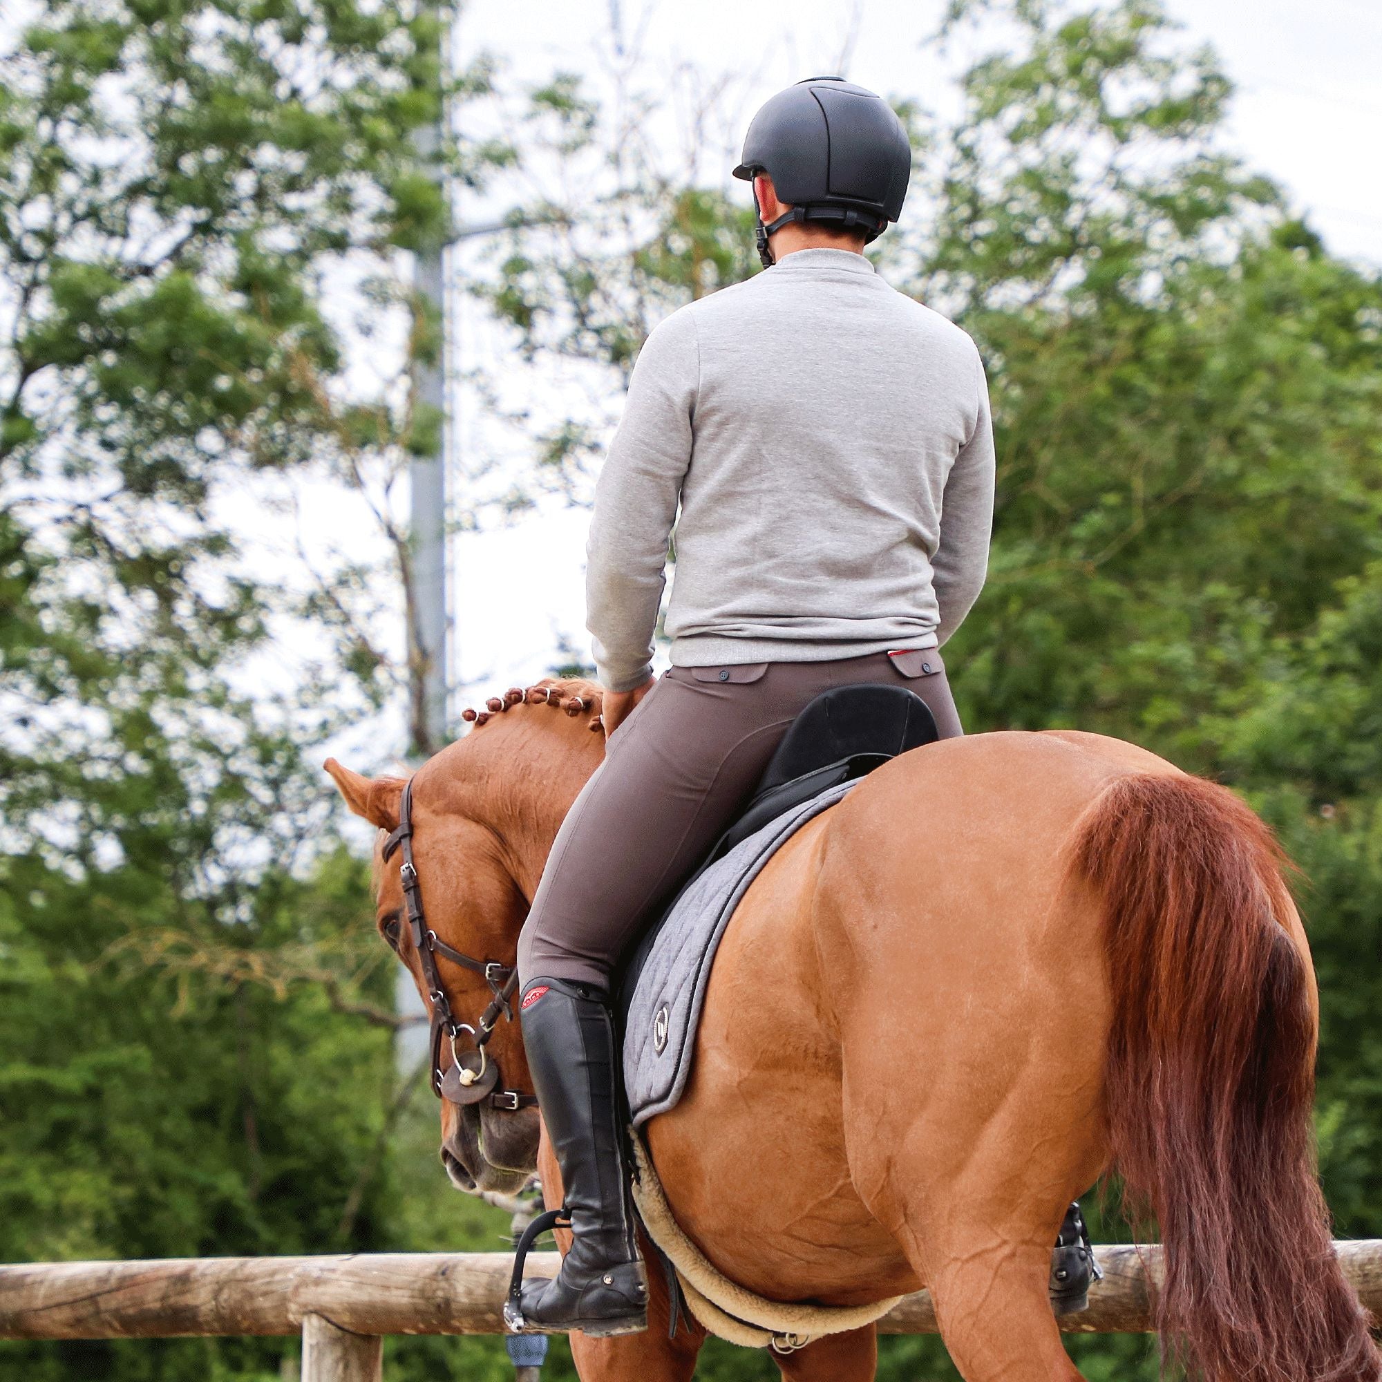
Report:
[[615,1093],[614,1020],[594,994],[560,978],[535,978],[524,990],[528,1068],[561,1164],[575,1242],[554,1280],[524,1282],[522,1318],[514,1321],[521,1329],[604,1336],[648,1327]]

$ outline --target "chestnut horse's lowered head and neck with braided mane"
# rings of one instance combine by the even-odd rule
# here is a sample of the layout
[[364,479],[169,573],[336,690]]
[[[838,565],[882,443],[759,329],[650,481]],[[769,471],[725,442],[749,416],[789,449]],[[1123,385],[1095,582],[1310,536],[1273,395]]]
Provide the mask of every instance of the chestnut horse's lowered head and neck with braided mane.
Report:
[[[568,694],[569,688],[576,690]],[[560,683],[553,708],[578,706],[575,714],[551,714],[547,699],[502,702],[500,724],[471,732],[430,759],[413,775],[412,858],[426,911],[426,929],[460,955],[493,960],[511,969],[518,933],[528,915],[551,840],[582,784],[603,752],[603,735],[586,732],[593,709],[583,683]],[[489,702],[493,708],[496,702]],[[498,712],[482,713],[481,724]],[[578,719],[579,716],[579,719]],[[401,865],[402,850],[388,860],[383,844],[398,826],[402,778],[366,778],[328,759],[326,771],[346,804],[380,829],[375,851],[375,925],[383,941],[412,974],[428,1016],[434,1013],[424,956],[408,925]],[[457,1023],[480,1030],[480,1017],[495,998],[486,977],[442,952],[434,954],[441,987]],[[528,1061],[517,1021],[517,995],[485,1046],[485,1061],[498,1067],[499,1089],[531,1090]],[[468,1035],[457,1042],[464,1059]],[[452,1046],[441,1041],[439,1066],[452,1064]],[[498,1108],[489,1097],[477,1103],[441,1100],[441,1158],[460,1190],[517,1190],[538,1165],[536,1108]]]

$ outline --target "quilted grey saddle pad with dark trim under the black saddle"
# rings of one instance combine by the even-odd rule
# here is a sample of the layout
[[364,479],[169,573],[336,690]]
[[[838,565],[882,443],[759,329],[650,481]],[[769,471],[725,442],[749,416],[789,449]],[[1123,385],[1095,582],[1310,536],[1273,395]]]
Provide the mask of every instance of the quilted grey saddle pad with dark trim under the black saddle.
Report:
[[634,1126],[674,1108],[691,1075],[710,965],[734,908],[763,865],[807,821],[861,779],[826,788],[741,840],[673,902],[638,976],[623,1041],[623,1079]]

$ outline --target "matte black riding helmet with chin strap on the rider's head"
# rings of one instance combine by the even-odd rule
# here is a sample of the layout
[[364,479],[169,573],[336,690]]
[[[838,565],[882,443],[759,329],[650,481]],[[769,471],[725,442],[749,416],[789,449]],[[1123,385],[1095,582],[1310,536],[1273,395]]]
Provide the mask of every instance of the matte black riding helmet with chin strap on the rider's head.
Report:
[[880,95],[843,77],[807,77],[753,116],[734,176],[752,182],[757,173],[792,206],[771,225],[759,217],[759,257],[771,268],[768,236],[789,221],[833,223],[861,229],[865,243],[878,239],[902,213],[912,148]]

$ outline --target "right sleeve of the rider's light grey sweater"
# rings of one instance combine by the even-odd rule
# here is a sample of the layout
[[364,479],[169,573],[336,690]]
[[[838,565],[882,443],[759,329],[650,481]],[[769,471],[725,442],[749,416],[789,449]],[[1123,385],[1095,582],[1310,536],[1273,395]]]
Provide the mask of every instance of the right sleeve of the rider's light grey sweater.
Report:
[[931,561],[941,644],[965,622],[988,574],[988,539],[994,527],[994,423],[978,351],[974,352],[974,372],[978,376],[974,430],[945,480],[940,545]]

